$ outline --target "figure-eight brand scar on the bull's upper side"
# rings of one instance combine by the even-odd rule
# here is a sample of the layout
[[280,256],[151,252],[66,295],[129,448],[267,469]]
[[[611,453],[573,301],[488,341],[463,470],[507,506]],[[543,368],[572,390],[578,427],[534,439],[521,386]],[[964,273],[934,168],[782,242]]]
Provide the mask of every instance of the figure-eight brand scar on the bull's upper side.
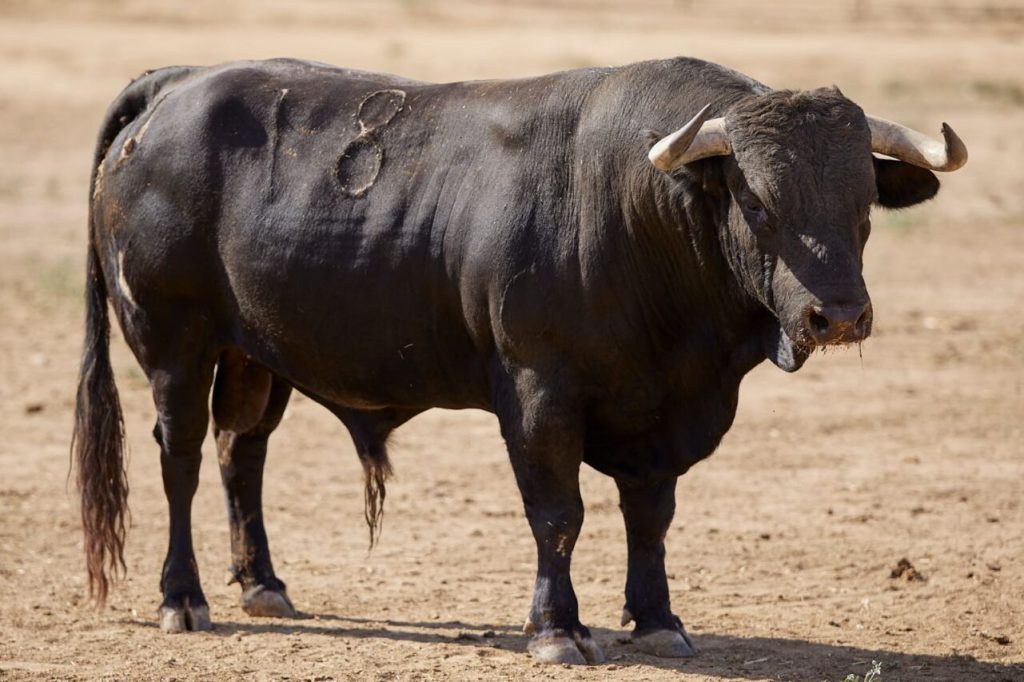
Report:
[[336,171],[341,190],[349,197],[361,197],[373,186],[384,162],[384,150],[373,133],[387,125],[404,105],[402,90],[377,90],[359,102],[355,114],[359,134],[342,150]]

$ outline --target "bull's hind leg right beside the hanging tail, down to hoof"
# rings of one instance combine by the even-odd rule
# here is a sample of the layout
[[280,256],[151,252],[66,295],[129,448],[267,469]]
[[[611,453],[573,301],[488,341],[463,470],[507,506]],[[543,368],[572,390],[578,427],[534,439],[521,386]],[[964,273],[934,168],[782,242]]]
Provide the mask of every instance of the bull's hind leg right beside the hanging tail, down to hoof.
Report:
[[213,380],[213,360],[164,365],[150,372],[160,443],[164,494],[170,510],[170,540],[161,573],[160,627],[165,632],[210,630],[210,609],[200,586],[193,549],[191,502],[199,484],[203,439]]

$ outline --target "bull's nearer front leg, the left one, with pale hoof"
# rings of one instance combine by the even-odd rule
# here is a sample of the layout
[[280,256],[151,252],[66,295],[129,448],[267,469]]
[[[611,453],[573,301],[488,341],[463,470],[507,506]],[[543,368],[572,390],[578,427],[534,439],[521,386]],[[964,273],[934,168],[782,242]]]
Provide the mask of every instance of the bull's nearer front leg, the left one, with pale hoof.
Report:
[[522,381],[499,406],[505,436],[537,542],[537,582],[524,631],[528,650],[544,663],[602,663],[604,653],[580,623],[569,565],[580,528],[583,499],[582,420],[542,386]]

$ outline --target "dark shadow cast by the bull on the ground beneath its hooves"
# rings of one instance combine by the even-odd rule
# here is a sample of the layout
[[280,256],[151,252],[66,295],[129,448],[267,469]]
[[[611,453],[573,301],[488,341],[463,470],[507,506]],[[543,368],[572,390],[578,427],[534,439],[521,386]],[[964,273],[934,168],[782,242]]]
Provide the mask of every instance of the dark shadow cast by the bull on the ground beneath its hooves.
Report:
[[[456,634],[452,634],[453,632]],[[604,648],[610,665],[650,666],[735,680],[843,680],[850,673],[862,676],[871,668],[872,662],[877,660],[882,665],[882,679],[885,682],[1024,681],[1024,664],[988,663],[970,655],[902,653],[798,639],[693,632],[691,634],[700,653],[693,658],[671,659],[640,653],[623,631],[593,629],[592,632]],[[346,638],[381,638],[425,644],[498,648],[526,654],[526,637],[519,628],[462,621],[413,623],[304,613],[294,621],[220,622],[214,630],[215,635],[221,636],[237,633],[308,633]]]

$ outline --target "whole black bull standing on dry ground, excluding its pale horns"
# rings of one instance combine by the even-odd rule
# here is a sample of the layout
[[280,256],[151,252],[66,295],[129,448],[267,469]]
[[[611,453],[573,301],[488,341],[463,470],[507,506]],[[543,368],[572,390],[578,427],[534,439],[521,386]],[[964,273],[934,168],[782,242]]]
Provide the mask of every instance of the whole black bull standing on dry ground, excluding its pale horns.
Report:
[[[705,104],[724,117],[719,152],[655,168],[653,142]],[[158,412],[165,630],[210,627],[190,505],[211,412],[243,607],[294,612],[260,502],[294,387],[352,435],[371,542],[388,434],[432,407],[497,415],[537,540],[526,630],[545,660],[602,657],[569,561],[581,464],[612,476],[624,625],[643,650],[691,654],[665,571],[677,477],[718,445],[752,368],[869,333],[868,209],[938,188],[872,157],[872,134],[835,88],[776,92],[694,59],[445,85],[295,60],[139,78],[92,178],[73,445],[90,587],[103,599],[124,568],[110,298]]]

